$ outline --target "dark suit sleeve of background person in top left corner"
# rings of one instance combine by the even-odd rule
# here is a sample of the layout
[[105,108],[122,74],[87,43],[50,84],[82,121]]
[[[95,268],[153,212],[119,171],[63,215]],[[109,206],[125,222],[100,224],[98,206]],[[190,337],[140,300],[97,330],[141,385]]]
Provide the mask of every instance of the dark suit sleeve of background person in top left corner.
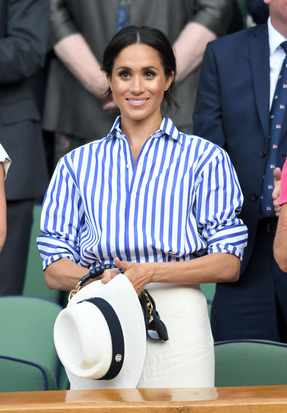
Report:
[[0,84],[28,78],[44,64],[49,0],[8,0],[6,37],[0,39]]

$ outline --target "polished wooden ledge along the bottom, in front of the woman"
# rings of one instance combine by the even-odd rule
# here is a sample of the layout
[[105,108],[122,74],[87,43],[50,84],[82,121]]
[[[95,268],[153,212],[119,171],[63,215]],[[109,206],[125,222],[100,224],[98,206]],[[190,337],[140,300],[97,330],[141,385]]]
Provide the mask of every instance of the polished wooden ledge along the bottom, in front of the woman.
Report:
[[0,393],[0,412],[287,412],[287,385]]

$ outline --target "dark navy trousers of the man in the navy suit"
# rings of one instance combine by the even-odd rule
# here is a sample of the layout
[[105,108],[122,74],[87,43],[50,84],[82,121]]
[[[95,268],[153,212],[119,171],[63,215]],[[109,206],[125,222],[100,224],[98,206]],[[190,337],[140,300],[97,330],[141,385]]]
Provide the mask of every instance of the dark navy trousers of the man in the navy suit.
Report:
[[273,257],[274,234],[267,232],[266,220],[258,222],[245,272],[237,282],[216,285],[211,309],[215,341],[287,342],[287,274]]

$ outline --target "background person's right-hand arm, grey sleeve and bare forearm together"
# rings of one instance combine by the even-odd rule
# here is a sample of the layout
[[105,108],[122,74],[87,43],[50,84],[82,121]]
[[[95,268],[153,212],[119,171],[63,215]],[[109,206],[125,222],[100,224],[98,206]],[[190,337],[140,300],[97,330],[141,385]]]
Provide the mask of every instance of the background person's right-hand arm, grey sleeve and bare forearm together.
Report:
[[230,0],[198,0],[192,7],[192,20],[174,42],[178,81],[201,64],[207,43],[226,34],[232,16]]

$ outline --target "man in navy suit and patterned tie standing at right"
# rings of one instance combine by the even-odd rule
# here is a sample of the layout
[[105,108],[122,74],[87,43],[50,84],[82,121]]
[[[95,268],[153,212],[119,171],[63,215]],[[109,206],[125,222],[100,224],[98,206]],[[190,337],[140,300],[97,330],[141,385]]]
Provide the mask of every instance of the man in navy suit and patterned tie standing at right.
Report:
[[[266,24],[207,45],[193,116],[193,133],[231,157],[244,195],[240,218],[249,231],[238,282],[216,285],[211,314],[215,341],[287,342],[287,277],[272,251],[280,209],[275,192],[287,156],[287,102],[280,106],[285,114],[278,144],[270,145],[269,138],[275,87],[286,57],[280,44],[287,39],[287,0],[264,2],[270,12]],[[276,159],[270,164],[273,150]],[[263,175],[269,167],[275,181],[268,185],[271,207],[263,207]]]

